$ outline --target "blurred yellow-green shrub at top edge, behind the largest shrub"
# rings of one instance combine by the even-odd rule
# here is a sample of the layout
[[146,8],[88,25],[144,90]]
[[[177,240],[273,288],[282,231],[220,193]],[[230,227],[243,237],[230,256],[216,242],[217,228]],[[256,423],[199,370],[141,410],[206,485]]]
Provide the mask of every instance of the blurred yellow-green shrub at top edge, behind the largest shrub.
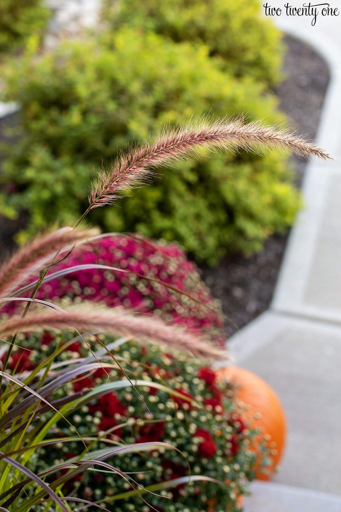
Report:
[[259,0],[104,0],[103,18],[152,30],[174,41],[200,41],[235,76],[270,86],[280,78],[280,32],[261,15]]

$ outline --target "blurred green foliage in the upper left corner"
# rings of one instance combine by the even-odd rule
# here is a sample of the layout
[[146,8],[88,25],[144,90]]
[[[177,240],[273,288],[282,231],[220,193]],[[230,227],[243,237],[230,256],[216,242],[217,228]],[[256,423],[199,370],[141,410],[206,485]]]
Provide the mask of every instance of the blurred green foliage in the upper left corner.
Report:
[[17,50],[47,26],[50,10],[41,0],[1,0],[0,53]]

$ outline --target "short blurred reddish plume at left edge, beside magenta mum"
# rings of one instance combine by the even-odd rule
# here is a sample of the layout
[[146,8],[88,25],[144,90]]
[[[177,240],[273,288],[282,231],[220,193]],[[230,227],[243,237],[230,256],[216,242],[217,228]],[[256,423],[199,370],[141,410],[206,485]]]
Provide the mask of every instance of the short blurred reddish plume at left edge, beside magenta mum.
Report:
[[36,237],[0,267],[0,297],[11,294],[33,272],[50,264],[56,254],[86,242],[97,233],[98,230],[94,228],[84,230],[64,227]]

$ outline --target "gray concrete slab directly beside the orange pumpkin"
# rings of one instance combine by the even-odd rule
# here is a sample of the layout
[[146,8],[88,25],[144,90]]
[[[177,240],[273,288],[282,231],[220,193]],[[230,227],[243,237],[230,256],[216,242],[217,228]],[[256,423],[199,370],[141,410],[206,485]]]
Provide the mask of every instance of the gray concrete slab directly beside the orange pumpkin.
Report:
[[269,311],[232,339],[231,350],[274,388],[286,413],[287,447],[274,481],[338,494],[341,510],[341,329]]

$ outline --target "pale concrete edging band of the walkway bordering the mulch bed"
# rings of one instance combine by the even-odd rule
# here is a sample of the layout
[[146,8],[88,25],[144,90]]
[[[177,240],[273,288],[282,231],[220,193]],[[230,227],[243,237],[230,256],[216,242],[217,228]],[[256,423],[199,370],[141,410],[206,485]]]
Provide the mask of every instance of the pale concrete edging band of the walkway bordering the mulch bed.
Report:
[[291,230],[271,308],[341,323],[341,310],[314,307],[306,304],[304,297],[330,176],[341,172],[341,53],[325,34],[314,32],[311,27],[302,30],[302,27],[291,26],[288,18],[283,18],[278,25],[289,35],[308,43],[329,64],[331,77],[316,143],[335,161],[311,159],[307,166],[303,183],[305,208]]

